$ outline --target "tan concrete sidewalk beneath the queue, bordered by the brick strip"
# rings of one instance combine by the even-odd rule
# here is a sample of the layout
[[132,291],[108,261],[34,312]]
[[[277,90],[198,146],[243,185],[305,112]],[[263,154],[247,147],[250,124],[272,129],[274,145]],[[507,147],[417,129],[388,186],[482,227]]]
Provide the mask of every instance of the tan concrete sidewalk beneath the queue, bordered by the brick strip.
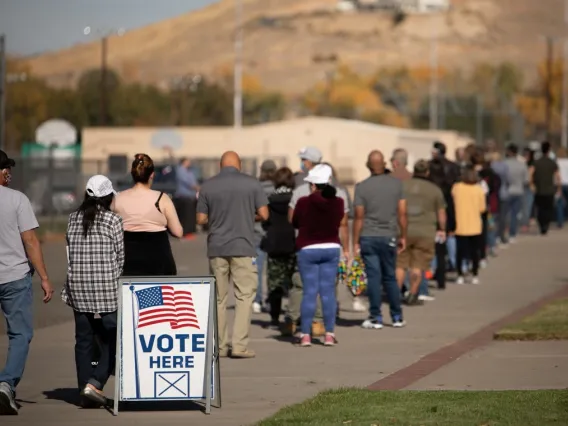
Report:
[[[365,314],[342,312],[337,329],[340,344],[296,348],[275,332],[259,326],[266,315],[255,316],[252,348],[257,358],[223,359],[223,408],[211,416],[201,412],[123,412],[112,418],[104,410],[81,410],[65,402],[75,386],[73,326],[59,324],[39,330],[18,398],[18,417],[4,417],[3,424],[44,426],[99,425],[247,425],[279,408],[300,402],[315,393],[341,386],[368,386],[440,347],[462,339],[489,323],[567,283],[565,251],[568,233],[549,237],[522,237],[504,250],[481,274],[481,285],[449,285],[424,307],[405,309],[403,329],[363,330]],[[343,306],[350,306],[342,292]],[[67,309],[61,306],[61,309]],[[387,314],[387,307],[384,313]],[[385,315],[388,318],[388,315]],[[0,344],[5,353],[6,341]],[[1,356],[1,355],[0,355]],[[482,374],[482,373],[479,373]],[[488,374],[494,374],[488,372]],[[112,394],[112,384],[108,385]]]

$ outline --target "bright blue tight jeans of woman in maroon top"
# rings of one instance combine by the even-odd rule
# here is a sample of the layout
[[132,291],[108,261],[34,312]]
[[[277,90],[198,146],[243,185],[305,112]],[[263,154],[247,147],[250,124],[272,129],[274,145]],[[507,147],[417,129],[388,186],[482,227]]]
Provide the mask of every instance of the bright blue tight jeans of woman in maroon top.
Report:
[[339,248],[313,248],[298,252],[298,269],[304,285],[300,308],[302,334],[312,332],[318,295],[321,299],[325,331],[333,333],[337,314],[335,279],[337,265],[339,265],[339,252]]

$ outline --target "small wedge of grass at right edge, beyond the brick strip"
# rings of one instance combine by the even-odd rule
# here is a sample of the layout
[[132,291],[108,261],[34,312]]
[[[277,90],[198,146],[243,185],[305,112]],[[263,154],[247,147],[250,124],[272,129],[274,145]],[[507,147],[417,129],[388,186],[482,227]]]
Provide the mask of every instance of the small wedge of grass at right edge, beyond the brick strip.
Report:
[[497,340],[568,339],[568,299],[549,303],[533,315],[495,333]]

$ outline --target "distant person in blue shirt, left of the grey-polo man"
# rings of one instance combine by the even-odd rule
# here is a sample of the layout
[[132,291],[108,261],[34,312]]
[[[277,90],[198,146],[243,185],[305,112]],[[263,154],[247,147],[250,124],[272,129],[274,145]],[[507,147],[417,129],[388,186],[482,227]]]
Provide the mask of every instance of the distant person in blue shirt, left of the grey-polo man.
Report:
[[176,167],[176,192],[174,194],[174,206],[183,227],[184,240],[195,238],[195,207],[198,192],[199,184],[191,169],[191,160],[184,157]]

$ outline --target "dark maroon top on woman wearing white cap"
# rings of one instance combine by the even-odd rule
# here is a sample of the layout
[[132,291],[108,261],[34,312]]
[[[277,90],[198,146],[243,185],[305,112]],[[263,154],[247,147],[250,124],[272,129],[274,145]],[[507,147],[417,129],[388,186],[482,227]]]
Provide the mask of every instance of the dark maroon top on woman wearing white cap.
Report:
[[337,243],[345,212],[339,197],[324,198],[316,191],[296,203],[292,223],[298,228],[296,250],[313,244]]

